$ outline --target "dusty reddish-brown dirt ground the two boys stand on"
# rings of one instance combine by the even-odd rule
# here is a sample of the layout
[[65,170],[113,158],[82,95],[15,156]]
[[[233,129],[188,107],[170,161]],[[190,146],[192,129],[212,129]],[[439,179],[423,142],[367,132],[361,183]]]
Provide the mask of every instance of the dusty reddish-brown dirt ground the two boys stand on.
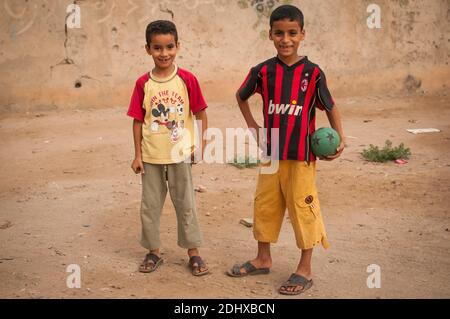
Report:
[[[447,93],[448,94],[448,93]],[[318,165],[318,187],[331,248],[314,252],[315,285],[292,298],[450,298],[450,96],[338,99],[347,149]],[[176,246],[175,213],[167,199],[161,221],[166,263],[137,271],[140,177],[126,107],[30,112],[0,119],[0,297],[3,298],[282,298],[279,285],[299,251],[286,220],[273,245],[271,274],[229,278],[236,262],[255,256],[251,228],[257,169],[194,167],[201,253],[212,274],[196,278]],[[257,112],[257,107],[255,107]],[[210,126],[243,127],[235,105],[212,104]],[[230,123],[232,123],[230,125]],[[317,127],[326,125],[321,113]],[[408,128],[441,133],[413,135]],[[405,165],[374,164],[369,144],[404,142]],[[81,267],[82,286],[69,289],[66,268]],[[369,289],[367,266],[381,268]]]

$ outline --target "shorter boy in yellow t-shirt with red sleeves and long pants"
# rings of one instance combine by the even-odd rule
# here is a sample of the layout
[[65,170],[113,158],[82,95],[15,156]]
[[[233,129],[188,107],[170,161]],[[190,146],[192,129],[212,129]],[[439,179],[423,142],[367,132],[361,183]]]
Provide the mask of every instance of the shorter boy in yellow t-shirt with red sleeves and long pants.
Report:
[[194,116],[202,123],[201,136],[206,130],[207,105],[195,76],[174,63],[179,49],[176,26],[154,21],[147,27],[146,40],[155,67],[137,80],[127,113],[133,118],[135,145],[131,168],[142,174],[141,245],[149,250],[139,271],[152,272],[163,263],[159,224],[169,189],[177,214],[178,245],[188,250],[192,274],[205,275],[209,270],[198,252],[202,235],[191,164],[185,160],[194,151]]

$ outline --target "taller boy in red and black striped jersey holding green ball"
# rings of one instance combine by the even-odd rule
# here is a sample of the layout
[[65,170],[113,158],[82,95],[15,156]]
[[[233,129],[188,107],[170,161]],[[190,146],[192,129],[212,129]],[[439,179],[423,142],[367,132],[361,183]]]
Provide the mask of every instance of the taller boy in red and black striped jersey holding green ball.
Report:
[[[254,93],[262,96],[268,155],[272,160],[279,160],[279,167],[274,174],[261,171],[258,177],[253,230],[258,255],[242,265],[235,265],[228,275],[269,273],[272,267],[270,244],[278,240],[287,208],[302,253],[296,271],[279,289],[286,295],[300,294],[312,286],[313,248],[318,244],[329,247],[317,198],[316,158],[310,147],[316,108],[326,111],[330,125],[341,137],[336,154],[323,159],[334,160],[344,150],[341,119],[325,74],[306,56],[298,54],[305,37],[303,27],[303,14],[297,7],[283,5],[274,10],[270,17],[270,40],[278,54],[252,68],[236,94],[247,125],[258,132],[260,127],[247,100]],[[278,130],[277,136],[271,136],[272,129]],[[274,149],[277,154],[271,154]]]

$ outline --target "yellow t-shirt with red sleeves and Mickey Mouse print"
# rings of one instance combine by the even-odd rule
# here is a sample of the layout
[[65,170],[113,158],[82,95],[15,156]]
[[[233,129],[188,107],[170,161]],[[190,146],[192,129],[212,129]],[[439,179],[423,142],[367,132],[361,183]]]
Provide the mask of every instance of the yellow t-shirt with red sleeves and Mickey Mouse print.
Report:
[[142,121],[142,160],[151,164],[184,161],[194,151],[194,114],[205,109],[195,76],[175,66],[166,78],[140,77],[128,115]]

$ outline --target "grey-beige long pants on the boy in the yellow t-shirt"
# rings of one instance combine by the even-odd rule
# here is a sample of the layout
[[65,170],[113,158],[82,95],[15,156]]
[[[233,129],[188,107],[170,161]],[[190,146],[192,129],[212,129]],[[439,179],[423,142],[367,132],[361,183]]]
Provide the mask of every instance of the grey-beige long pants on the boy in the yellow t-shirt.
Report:
[[177,214],[178,246],[186,249],[200,247],[203,240],[197,222],[191,164],[144,163],[144,170],[141,245],[149,250],[161,247],[160,217],[169,186],[170,198]]

